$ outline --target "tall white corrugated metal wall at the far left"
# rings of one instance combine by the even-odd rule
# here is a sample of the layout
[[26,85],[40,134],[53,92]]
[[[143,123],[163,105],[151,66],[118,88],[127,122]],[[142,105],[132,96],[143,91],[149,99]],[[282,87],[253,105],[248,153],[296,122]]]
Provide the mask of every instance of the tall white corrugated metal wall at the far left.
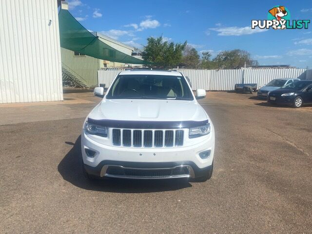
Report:
[[0,103],[63,100],[56,0],[1,0],[0,54]]

